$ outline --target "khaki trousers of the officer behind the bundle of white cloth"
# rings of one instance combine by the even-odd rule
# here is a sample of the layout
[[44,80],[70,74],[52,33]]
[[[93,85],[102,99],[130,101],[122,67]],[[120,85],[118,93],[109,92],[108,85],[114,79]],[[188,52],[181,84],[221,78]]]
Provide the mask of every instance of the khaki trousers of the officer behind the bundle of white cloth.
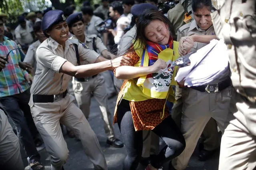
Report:
[[228,108],[231,95],[231,86],[218,93],[203,93],[191,88],[183,91],[181,132],[185,138],[186,147],[179,156],[172,160],[175,169],[183,170],[187,167],[197,141],[211,117],[216,120],[220,130],[224,132],[229,120]]

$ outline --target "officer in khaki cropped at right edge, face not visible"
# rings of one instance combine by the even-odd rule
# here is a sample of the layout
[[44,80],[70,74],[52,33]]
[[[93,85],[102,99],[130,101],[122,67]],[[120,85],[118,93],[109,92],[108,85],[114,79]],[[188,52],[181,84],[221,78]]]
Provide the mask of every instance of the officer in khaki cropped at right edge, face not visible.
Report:
[[228,47],[234,114],[220,148],[219,170],[256,168],[256,1],[212,0],[218,38]]

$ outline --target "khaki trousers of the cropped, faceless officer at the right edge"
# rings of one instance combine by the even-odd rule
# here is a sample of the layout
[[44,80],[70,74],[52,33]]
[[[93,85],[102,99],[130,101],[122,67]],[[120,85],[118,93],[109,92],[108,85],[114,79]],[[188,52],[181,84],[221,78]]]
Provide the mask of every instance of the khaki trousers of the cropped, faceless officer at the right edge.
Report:
[[234,117],[222,136],[219,170],[255,170],[256,104],[234,91],[229,111]]

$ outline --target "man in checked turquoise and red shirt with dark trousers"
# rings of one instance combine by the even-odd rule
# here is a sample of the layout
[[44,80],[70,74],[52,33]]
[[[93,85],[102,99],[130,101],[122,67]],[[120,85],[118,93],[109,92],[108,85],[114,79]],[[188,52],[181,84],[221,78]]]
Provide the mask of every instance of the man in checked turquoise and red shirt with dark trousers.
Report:
[[18,48],[17,44],[4,36],[4,25],[0,20],[0,58],[5,59],[9,51],[14,49],[0,72],[0,103],[4,105],[6,113],[17,127],[29,166],[32,170],[41,170],[44,167],[40,163],[40,155],[32,137],[32,133],[36,133],[37,130],[28,105],[29,83],[32,83],[32,79],[26,70],[19,67],[20,53],[15,48]]

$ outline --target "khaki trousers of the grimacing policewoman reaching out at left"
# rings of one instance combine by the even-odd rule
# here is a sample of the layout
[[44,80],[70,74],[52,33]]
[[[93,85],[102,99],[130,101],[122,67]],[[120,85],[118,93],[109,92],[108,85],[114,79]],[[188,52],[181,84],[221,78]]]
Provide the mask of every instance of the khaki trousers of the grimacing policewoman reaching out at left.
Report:
[[75,97],[69,93],[65,98],[52,103],[33,103],[30,109],[46,151],[50,154],[52,170],[61,170],[67,161],[69,150],[63,137],[60,123],[73,130],[81,140],[83,150],[97,170],[107,170],[107,163],[96,134],[91,129],[82,111],[74,104]]

